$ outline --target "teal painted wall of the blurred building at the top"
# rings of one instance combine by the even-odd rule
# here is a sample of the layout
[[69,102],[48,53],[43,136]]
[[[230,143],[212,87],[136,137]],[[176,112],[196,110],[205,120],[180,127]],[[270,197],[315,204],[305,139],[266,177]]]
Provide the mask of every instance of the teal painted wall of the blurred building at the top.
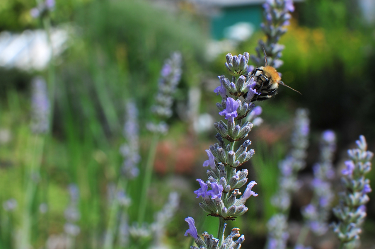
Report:
[[215,40],[224,38],[225,28],[239,22],[251,23],[255,30],[258,30],[262,18],[263,7],[261,5],[223,7],[220,14],[211,19],[211,36]]

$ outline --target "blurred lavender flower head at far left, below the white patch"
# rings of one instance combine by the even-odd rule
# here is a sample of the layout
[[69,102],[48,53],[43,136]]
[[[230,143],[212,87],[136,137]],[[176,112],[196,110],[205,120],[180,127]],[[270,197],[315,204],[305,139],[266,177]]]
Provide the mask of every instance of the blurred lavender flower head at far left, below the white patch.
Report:
[[34,133],[46,133],[49,130],[50,103],[47,84],[42,77],[31,81],[31,130]]

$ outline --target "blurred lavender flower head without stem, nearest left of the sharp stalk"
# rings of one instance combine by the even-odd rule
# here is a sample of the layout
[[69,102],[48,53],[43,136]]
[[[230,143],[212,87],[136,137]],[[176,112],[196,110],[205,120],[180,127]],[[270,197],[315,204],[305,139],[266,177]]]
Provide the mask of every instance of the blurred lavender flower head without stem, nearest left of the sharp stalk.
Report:
[[[159,89],[155,96],[156,103],[151,107],[151,111],[161,119],[169,118],[172,115],[172,95],[181,79],[181,63],[181,53],[173,52],[171,57],[165,60],[160,71]],[[160,124],[149,123],[147,129],[154,133],[165,133],[165,129],[168,127]]]

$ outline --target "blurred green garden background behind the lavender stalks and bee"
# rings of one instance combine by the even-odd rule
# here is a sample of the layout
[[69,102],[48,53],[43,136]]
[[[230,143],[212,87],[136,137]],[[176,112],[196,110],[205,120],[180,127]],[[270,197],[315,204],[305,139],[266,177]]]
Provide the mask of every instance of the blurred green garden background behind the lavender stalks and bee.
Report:
[[[146,124],[155,121],[151,106],[160,71],[174,51],[181,53],[181,80],[166,119],[169,131],[155,147],[144,221],[153,222],[175,191],[178,208],[159,248],[192,245],[191,238],[184,237],[187,216],[195,218],[199,231],[215,234],[217,219],[206,217],[192,193],[198,188],[196,178],[205,175],[205,149],[216,140],[213,123],[220,118],[220,100],[213,90],[220,84],[217,75],[227,75],[225,54],[255,54],[258,40],[264,38],[263,2],[56,0],[53,11],[33,17],[30,10],[42,1],[0,0],[0,248],[26,249],[18,244],[27,224],[35,249],[104,248],[111,216],[108,196],[120,177],[119,150],[126,141],[123,126],[130,100],[138,108],[141,159],[139,175],[124,185],[131,199],[124,209],[128,224],[139,220],[153,136]],[[249,180],[257,181],[253,190],[259,196],[249,200],[244,216],[228,221],[245,235],[243,248],[260,249],[266,243],[266,223],[275,212],[270,198],[278,189],[278,161],[291,146],[297,108],[309,110],[311,133],[306,168],[299,173],[304,184],[292,201],[291,245],[303,220],[300,208],[312,196],[309,183],[321,133],[336,133],[336,192],[346,151],[359,135],[366,136],[369,150],[375,149],[375,2],[304,0],[294,6],[288,32],[279,41],[285,49],[278,71],[284,83],[302,95],[280,87],[275,98],[255,102],[263,108],[263,123],[249,133],[255,155],[240,167],[249,170]],[[51,101],[49,129],[42,135],[31,129],[35,77],[45,80]],[[36,167],[39,173],[32,174]],[[375,171],[368,178],[375,182]],[[31,201],[28,191],[33,191]],[[361,238],[362,248],[373,249],[374,192],[369,197]],[[66,226],[66,210],[73,206],[78,210],[74,240]],[[121,219],[115,215],[114,248],[153,246],[151,239],[134,238],[121,245]],[[314,249],[338,245],[332,232],[308,240]]]

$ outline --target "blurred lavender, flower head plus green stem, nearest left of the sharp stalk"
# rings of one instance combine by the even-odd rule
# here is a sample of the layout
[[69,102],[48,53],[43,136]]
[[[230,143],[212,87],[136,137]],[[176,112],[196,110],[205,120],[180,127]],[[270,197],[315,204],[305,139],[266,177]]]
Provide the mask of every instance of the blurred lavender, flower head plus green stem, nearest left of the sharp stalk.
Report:
[[[160,72],[159,89],[155,97],[156,104],[151,108],[151,110],[159,120],[165,120],[172,115],[172,95],[175,92],[177,85],[181,79],[181,60],[182,57],[180,52],[174,52],[171,57],[165,61],[164,66]],[[145,176],[141,191],[141,201],[139,203],[139,226],[144,221],[147,206],[147,190],[151,183],[157,142],[159,140],[160,134],[168,132],[168,126],[164,121],[159,121],[159,123],[148,123],[147,129],[153,133],[153,138],[151,140],[150,151],[148,153]]]

